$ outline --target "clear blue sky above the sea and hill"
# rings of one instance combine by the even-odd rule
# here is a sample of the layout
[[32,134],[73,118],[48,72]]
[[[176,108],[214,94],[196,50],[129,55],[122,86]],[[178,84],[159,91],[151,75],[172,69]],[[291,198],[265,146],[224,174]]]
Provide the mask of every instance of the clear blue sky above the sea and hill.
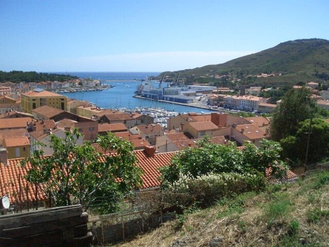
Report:
[[329,1],[13,1],[0,70],[156,71],[223,63],[295,39],[329,40]]

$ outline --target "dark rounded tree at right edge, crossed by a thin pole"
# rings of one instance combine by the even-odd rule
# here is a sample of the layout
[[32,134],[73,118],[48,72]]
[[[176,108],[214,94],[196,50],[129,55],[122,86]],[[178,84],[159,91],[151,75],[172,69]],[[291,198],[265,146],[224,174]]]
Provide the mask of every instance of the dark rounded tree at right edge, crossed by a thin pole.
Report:
[[[281,140],[283,156],[295,162],[304,162],[309,132],[309,121],[299,123],[296,136],[287,136]],[[312,120],[308,161],[318,162],[329,156],[329,123],[320,118]]]

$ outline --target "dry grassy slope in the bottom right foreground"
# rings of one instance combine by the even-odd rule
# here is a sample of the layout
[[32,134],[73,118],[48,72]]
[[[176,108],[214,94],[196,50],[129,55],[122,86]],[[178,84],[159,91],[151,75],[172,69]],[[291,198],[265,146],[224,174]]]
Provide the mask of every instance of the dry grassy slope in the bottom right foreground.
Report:
[[223,199],[115,246],[208,246],[216,237],[223,237],[218,246],[328,246],[328,209],[329,172],[315,173],[259,195]]

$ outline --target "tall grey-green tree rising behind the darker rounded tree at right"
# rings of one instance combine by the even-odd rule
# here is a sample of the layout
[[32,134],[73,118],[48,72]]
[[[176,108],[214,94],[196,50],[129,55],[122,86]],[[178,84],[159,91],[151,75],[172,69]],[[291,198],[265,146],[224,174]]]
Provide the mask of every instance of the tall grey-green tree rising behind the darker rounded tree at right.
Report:
[[270,133],[273,140],[280,141],[289,135],[295,136],[298,123],[310,118],[318,111],[317,104],[306,87],[289,90],[279,107],[273,112]]

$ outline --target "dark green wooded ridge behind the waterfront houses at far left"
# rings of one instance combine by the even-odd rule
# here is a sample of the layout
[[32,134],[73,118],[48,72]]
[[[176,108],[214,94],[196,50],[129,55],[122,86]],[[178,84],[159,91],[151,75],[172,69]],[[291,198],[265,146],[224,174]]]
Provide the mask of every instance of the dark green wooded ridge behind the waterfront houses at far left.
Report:
[[78,79],[77,76],[60,75],[60,74],[48,74],[48,73],[36,73],[35,71],[23,72],[12,70],[11,72],[4,72],[0,70],[0,82],[13,82],[20,83],[25,82],[41,82],[41,81],[67,81],[72,79]]

